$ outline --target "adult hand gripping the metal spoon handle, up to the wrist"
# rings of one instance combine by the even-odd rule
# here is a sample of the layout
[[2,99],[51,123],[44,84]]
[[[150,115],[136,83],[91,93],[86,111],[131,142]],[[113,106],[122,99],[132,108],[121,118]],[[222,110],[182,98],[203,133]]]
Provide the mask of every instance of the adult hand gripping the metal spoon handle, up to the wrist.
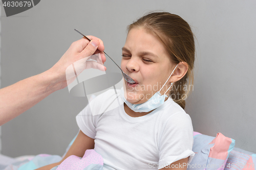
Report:
[[[71,44],[68,51],[60,58],[60,60],[48,71],[57,74],[57,88],[65,88],[73,82],[84,69],[95,68],[106,70],[103,66],[106,58],[103,53],[104,45],[101,39],[88,36],[92,41],[82,38]],[[88,61],[88,60],[95,61]],[[76,71],[74,74],[74,70]]]

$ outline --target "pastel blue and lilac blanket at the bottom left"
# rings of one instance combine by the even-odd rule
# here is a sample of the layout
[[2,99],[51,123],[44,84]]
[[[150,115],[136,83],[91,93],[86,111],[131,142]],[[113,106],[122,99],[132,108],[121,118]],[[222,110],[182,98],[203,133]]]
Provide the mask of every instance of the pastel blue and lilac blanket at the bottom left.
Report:
[[[62,158],[58,155],[40,154],[36,156],[23,156],[10,158],[0,156],[0,169],[2,170],[32,170],[48,164],[59,162]],[[103,158],[94,150],[87,150],[83,157],[75,155],[69,156],[60,165],[53,167],[51,170],[102,170]]]

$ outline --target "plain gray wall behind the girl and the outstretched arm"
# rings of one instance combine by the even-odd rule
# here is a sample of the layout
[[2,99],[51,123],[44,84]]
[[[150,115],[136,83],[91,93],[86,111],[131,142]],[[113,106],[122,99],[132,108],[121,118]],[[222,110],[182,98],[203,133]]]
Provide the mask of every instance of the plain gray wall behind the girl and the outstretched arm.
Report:
[[[74,28],[101,38],[120,63],[127,25],[150,10],[180,15],[197,37],[195,85],[185,109],[194,131],[221,132],[236,147],[256,152],[256,1],[44,0],[11,17],[1,8],[2,88],[53,66],[81,38]],[[54,92],[2,126],[2,154],[62,155],[86,104],[67,88]]]

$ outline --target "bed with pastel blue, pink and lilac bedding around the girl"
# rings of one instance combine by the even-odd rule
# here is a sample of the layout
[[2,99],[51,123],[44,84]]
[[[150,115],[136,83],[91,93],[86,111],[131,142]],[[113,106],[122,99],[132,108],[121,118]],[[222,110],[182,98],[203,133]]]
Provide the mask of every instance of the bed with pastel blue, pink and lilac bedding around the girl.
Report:
[[[72,145],[74,139],[70,142],[66,149],[66,153]],[[203,135],[199,132],[194,132],[193,151],[196,153],[193,160],[187,164],[187,169],[218,169],[218,170],[255,170],[256,154],[234,147],[235,140],[218,133],[216,137]],[[65,154],[66,154],[65,153]],[[63,156],[65,156],[65,154]],[[95,154],[95,153],[94,153]],[[97,154],[97,153],[96,153]],[[86,154],[85,154],[86,155]],[[9,170],[30,170],[47,164],[58,162],[63,156],[59,155],[26,155],[17,158],[11,158],[0,154],[0,169]],[[95,156],[95,155],[94,155]],[[54,169],[81,169],[75,167],[75,163],[84,161],[82,158],[70,157],[70,162],[65,164],[66,168]],[[67,158],[68,159],[68,158]],[[72,162],[73,161],[73,162]],[[63,163],[63,162],[62,162]],[[66,162],[67,163],[67,162]],[[89,165],[91,164],[91,167]],[[84,164],[83,164],[84,165]],[[101,163],[90,162],[84,165],[83,169],[102,169],[103,159]],[[60,165],[59,165],[60,166]]]

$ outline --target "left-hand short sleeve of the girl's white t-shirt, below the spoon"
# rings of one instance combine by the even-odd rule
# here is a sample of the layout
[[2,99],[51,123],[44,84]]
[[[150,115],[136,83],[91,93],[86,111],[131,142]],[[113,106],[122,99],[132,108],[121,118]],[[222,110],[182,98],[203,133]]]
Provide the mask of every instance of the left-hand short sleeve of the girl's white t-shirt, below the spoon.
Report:
[[77,116],[76,122],[79,129],[87,136],[95,139],[96,122],[98,115],[93,115],[88,104]]

